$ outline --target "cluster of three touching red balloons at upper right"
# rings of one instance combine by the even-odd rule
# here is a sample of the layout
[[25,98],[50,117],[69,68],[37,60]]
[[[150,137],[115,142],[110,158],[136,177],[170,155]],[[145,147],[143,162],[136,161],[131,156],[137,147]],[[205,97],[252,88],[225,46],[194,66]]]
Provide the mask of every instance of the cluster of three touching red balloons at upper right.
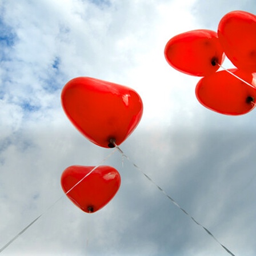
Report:
[[[235,68],[217,71],[225,56]],[[255,107],[255,15],[231,11],[222,17],[218,32],[198,29],[178,34],[167,42],[165,58],[174,69],[203,77],[195,94],[208,109],[241,115]]]

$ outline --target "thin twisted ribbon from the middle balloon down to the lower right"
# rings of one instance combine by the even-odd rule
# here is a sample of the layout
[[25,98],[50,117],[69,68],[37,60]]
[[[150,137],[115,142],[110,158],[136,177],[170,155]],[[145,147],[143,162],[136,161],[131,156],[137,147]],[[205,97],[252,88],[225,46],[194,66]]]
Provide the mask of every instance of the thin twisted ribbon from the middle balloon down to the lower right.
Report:
[[161,191],[161,192],[165,195],[165,197],[167,197],[175,206],[177,206],[177,207],[179,208],[179,210],[181,210],[181,211],[182,211],[183,213],[185,213],[190,219],[192,219],[192,221],[193,221],[194,223],[196,223],[198,226],[202,227],[203,230],[205,230],[207,234],[209,234],[219,245],[221,245],[222,248],[225,249],[227,253],[229,253],[229,254],[232,255],[232,256],[235,256],[235,254],[231,253],[231,251],[230,251],[229,249],[227,249],[226,246],[222,245],[222,243],[218,241],[218,239],[209,231],[209,229],[207,229],[207,228],[206,228],[205,226],[203,226],[201,223],[199,223],[198,221],[196,221],[196,220],[195,220],[189,213],[187,213],[187,211],[184,210],[173,198],[171,198],[170,195],[168,195],[168,194],[165,192],[165,190],[162,189],[162,187],[158,186],[157,183],[155,183],[155,182],[153,181],[153,179],[151,179],[151,178],[149,177],[149,175],[147,175],[146,173],[144,173],[144,172],[141,170],[141,168],[138,167],[138,165],[135,165],[135,163],[133,163],[133,162],[130,160],[130,158],[127,157],[127,155],[126,155],[125,153],[123,153],[123,151],[118,147],[118,145],[115,144],[115,142],[113,142],[113,144],[115,145],[115,148],[118,149],[119,153],[121,153],[122,158],[126,158],[136,169],[138,169],[139,171],[141,171],[141,173],[142,173],[151,183],[153,183],[153,184],[155,185],[155,187],[157,187],[157,189],[158,189],[159,191]]

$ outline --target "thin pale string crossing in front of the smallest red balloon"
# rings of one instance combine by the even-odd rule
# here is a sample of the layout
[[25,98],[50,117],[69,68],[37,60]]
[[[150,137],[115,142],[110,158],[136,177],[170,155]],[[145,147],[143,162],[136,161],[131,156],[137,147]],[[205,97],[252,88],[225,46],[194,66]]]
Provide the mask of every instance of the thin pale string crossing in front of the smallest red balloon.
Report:
[[20,237],[27,229],[29,229],[30,226],[32,226],[36,221],[38,221],[39,218],[41,218],[43,215],[45,215],[47,213],[47,211],[49,211],[53,206],[55,206],[63,197],[65,197],[65,195],[67,195],[71,190],[74,189],[74,187],[76,187],[79,183],[81,183],[86,177],[88,177],[91,173],[93,173],[93,171],[95,169],[97,169],[100,165],[102,165],[102,163],[106,162],[107,159],[109,159],[111,157],[111,155],[113,155],[115,153],[115,151],[117,151],[117,149],[113,150],[109,155],[107,155],[106,158],[104,158],[97,166],[95,166],[89,173],[87,173],[80,181],[78,181],[73,187],[71,187],[71,189],[69,191],[67,191],[65,194],[63,194],[60,198],[58,198],[52,205],[50,205],[45,211],[43,211],[43,213],[41,213],[40,215],[38,215],[37,218],[35,218],[33,221],[31,221],[29,223],[29,225],[27,225],[24,229],[22,229],[17,235],[15,235],[15,237],[13,237],[9,242],[6,243],[6,245],[4,245],[1,249],[0,249],[0,253],[2,253],[3,250],[5,250],[9,245],[11,245],[11,243],[13,243],[18,237]]

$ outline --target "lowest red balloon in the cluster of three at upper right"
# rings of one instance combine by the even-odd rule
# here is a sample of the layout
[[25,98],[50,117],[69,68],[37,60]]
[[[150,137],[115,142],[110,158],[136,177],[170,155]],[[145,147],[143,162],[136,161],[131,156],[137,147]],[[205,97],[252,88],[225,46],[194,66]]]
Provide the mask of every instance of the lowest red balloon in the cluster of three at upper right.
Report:
[[[237,69],[233,74],[256,86],[256,77]],[[242,115],[255,107],[256,88],[247,85],[226,70],[201,78],[195,88],[198,101],[210,110],[226,115]]]

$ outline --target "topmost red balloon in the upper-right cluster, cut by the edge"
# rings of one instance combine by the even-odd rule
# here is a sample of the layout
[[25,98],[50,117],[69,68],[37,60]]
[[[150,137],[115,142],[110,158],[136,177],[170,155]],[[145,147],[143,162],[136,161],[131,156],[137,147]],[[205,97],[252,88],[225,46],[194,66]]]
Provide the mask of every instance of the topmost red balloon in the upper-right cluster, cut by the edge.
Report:
[[256,72],[256,16],[231,11],[219,22],[218,37],[227,58],[239,69]]

